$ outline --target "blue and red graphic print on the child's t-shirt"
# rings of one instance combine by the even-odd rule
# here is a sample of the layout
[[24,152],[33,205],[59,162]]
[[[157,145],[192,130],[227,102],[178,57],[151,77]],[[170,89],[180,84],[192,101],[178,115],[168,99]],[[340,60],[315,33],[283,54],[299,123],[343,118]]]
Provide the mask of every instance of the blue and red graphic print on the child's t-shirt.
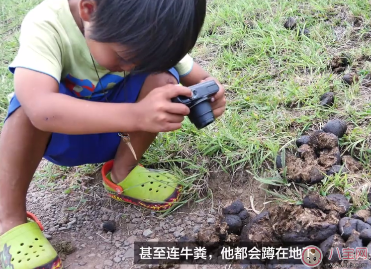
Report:
[[[112,88],[116,84],[122,82],[124,77],[107,74],[100,79],[96,86],[90,80],[80,80],[68,74],[64,84],[67,89],[74,92],[78,97],[100,96],[103,95],[102,90]],[[103,87],[103,89],[102,89]]]

